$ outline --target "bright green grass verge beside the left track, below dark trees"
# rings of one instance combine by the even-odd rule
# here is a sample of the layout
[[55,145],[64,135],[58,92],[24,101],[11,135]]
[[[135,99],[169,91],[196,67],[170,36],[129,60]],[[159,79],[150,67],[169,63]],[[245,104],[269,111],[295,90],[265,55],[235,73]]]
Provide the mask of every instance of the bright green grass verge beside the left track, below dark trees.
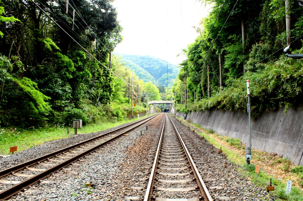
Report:
[[[147,116],[150,115],[143,116],[140,119]],[[85,125],[81,129],[78,129],[78,133],[98,132],[135,120],[138,119],[124,119],[114,123],[100,122]],[[67,134],[67,127],[60,124],[48,125],[46,127],[28,130],[18,128],[0,128],[0,155],[9,155],[9,148],[12,146],[18,146],[18,152],[20,152],[49,141],[71,137],[74,135],[74,133],[74,129],[70,128],[70,132]]]

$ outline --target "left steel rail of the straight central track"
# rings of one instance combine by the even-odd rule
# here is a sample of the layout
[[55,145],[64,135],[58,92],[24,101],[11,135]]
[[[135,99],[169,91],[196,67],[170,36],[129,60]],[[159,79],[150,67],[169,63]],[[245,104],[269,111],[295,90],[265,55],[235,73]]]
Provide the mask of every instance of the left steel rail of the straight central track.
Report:
[[165,127],[165,116],[166,115],[164,115],[163,127],[162,127],[162,131],[161,131],[160,139],[159,139],[157,152],[156,152],[156,155],[155,155],[154,164],[153,164],[152,169],[151,169],[151,176],[149,177],[149,180],[148,180],[147,189],[146,189],[146,193],[145,193],[145,196],[144,196],[144,201],[151,200],[151,194],[152,194],[152,190],[153,190],[153,187],[154,187],[155,176],[156,176],[158,160],[159,160],[159,155],[160,155],[160,148],[161,148],[161,144],[162,144],[162,138],[163,138],[164,127]]

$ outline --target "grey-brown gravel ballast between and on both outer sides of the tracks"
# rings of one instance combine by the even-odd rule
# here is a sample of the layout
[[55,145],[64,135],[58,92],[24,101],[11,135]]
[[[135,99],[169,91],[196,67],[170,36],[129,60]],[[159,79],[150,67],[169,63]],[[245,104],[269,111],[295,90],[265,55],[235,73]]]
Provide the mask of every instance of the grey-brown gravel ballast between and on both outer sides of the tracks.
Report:
[[[218,149],[207,140],[190,131],[178,120],[174,118],[172,120],[215,201],[274,200],[272,197],[268,197],[265,189],[258,188],[248,179],[243,178],[237,171],[238,166],[232,164],[224,153],[218,154]],[[105,145],[97,152],[82,158],[81,161],[47,177],[45,179],[47,182],[36,183],[29,190],[18,193],[10,200],[143,200],[162,123],[163,115],[159,115],[135,131],[128,133],[128,136],[123,136]],[[148,126],[148,130],[146,130],[146,126]],[[115,128],[72,138],[80,137],[81,139],[75,140],[81,142]],[[84,139],[88,135],[90,136]],[[21,161],[18,160],[21,159],[25,161],[31,157],[36,158],[37,155],[35,157],[30,155],[34,155],[36,150],[43,151],[43,154],[39,154],[44,155],[46,152],[43,149],[48,146],[59,147],[55,144],[62,143],[60,141],[24,150],[22,152],[25,153],[19,152],[19,155],[12,155],[16,157],[14,159],[12,156],[10,157],[15,164],[20,163]],[[73,144],[65,143],[65,146]],[[49,150],[52,152],[53,148],[49,148]],[[22,156],[26,156],[27,159],[23,159]],[[1,168],[5,167],[2,161],[8,160],[10,157],[0,159]],[[5,163],[6,167],[9,167],[9,161],[5,161]],[[93,188],[85,186],[90,179],[94,184]]]

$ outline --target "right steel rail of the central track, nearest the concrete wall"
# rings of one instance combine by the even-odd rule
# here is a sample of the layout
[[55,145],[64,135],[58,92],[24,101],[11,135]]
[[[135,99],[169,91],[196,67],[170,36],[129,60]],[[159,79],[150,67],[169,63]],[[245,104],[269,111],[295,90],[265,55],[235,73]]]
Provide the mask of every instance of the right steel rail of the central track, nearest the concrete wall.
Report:
[[[168,116],[168,118],[169,118],[169,120],[171,120],[171,118],[169,116]],[[175,126],[175,124],[173,123],[172,120],[171,120],[171,123],[174,126],[175,131],[177,132],[177,135],[178,135],[178,137],[180,139],[180,142],[181,142],[181,145],[183,147],[183,150],[185,151],[185,154],[186,154],[186,156],[188,158],[189,164],[191,166],[191,170],[193,171],[193,173],[195,175],[196,181],[198,183],[198,187],[200,188],[200,192],[202,193],[204,200],[205,201],[212,201],[211,195],[208,192],[207,187],[206,187],[204,181],[202,180],[202,177],[201,177],[201,175],[200,175],[200,173],[198,171],[198,168],[196,167],[195,162],[191,158],[191,155],[188,152],[188,149],[186,148],[185,143],[183,142],[180,133],[178,132],[178,130],[177,130],[177,128],[176,128],[176,126]]]

